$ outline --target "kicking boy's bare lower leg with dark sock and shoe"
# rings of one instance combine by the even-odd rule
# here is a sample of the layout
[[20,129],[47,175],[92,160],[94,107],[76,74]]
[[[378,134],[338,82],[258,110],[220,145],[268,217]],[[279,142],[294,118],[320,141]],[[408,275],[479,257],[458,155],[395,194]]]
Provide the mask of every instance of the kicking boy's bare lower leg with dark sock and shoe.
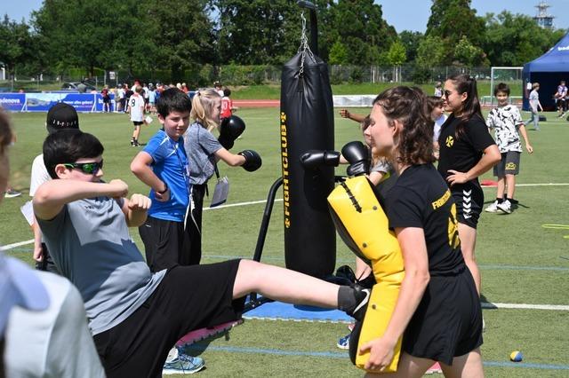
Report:
[[370,290],[362,287],[338,286],[278,266],[241,260],[233,297],[252,292],[286,303],[337,308],[356,319],[363,318],[370,295]]

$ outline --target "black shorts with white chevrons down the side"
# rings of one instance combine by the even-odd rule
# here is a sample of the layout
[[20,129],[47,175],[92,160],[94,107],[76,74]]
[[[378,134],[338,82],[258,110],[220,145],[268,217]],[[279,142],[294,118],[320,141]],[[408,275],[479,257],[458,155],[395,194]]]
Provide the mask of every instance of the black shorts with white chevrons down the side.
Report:
[[484,193],[478,181],[451,186],[456,203],[456,217],[459,223],[477,228],[478,218],[484,206]]

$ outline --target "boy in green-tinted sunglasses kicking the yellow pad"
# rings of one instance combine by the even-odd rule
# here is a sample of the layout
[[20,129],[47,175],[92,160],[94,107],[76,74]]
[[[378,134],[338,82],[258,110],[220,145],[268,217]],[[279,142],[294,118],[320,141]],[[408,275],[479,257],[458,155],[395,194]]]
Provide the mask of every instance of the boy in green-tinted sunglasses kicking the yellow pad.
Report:
[[91,134],[60,131],[44,142],[52,178],[34,212],[61,273],[79,289],[108,377],[159,376],[182,335],[239,319],[244,296],[338,308],[361,319],[369,289],[338,286],[250,260],[151,273],[127,226],[144,224],[150,199],[122,180],[101,181],[103,146]]

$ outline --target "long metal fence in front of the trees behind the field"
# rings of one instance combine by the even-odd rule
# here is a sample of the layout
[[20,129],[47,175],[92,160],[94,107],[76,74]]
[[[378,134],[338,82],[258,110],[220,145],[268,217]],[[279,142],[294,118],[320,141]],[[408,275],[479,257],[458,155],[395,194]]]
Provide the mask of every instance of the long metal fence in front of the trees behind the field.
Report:
[[[172,74],[163,72],[128,73],[122,70],[102,71],[98,75],[86,77],[80,70],[63,75],[15,75],[1,80],[0,91],[46,91],[57,90],[65,83],[79,83],[82,80],[100,91],[107,84],[113,88],[120,83],[132,83],[138,78],[146,83],[188,83],[190,87],[211,85],[220,80],[225,85],[252,85],[264,83],[280,83],[281,67],[278,66],[219,66],[204,65],[185,71],[180,78],[172,78]],[[330,80],[340,83],[434,83],[444,81],[455,74],[469,74],[477,79],[490,79],[491,67],[381,67],[381,66],[330,66]],[[505,78],[517,80],[517,77]]]

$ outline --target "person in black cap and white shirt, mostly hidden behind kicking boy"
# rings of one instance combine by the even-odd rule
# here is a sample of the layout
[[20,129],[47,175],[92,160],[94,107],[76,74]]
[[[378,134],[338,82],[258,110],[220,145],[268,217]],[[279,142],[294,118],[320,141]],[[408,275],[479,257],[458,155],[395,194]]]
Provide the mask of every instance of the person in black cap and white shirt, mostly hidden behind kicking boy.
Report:
[[[45,120],[45,127],[48,134],[52,134],[59,130],[79,129],[79,117],[75,107],[70,106],[64,102],[59,102],[52,106],[47,112],[47,119]],[[29,196],[34,197],[39,185],[51,180],[52,178],[47,173],[44,165],[44,154],[36,156],[32,162],[32,171],[29,181]],[[33,220],[33,218],[32,218]],[[55,264],[53,264],[52,257],[42,240],[42,232],[36,222],[31,224],[32,231],[34,232],[34,260],[36,261],[36,269],[39,271],[47,271],[59,274]]]

